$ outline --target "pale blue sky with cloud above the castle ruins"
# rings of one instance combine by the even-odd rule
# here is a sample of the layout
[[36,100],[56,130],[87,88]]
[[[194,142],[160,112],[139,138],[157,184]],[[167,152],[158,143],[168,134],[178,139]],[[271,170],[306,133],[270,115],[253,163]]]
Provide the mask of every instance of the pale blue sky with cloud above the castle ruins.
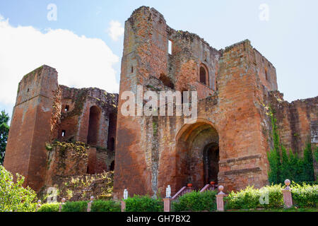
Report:
[[[55,4],[57,6],[56,21],[47,20],[47,13],[49,12],[49,10],[47,10],[48,4]],[[259,14],[261,13],[259,6],[261,4],[267,4],[267,6],[269,6],[268,21],[259,19]],[[57,32],[55,35],[60,35],[61,40],[69,40],[69,42],[72,42],[72,38],[78,40],[78,44],[80,45],[78,49],[81,48],[82,44],[87,45],[88,49],[90,48],[90,44],[95,45],[97,49],[103,49],[103,52],[101,50],[98,56],[95,56],[92,50],[93,52],[90,54],[93,57],[89,57],[88,59],[92,59],[93,61],[94,57],[96,57],[98,60],[94,59],[95,63],[88,62],[88,66],[91,64],[91,66],[94,67],[94,64],[97,64],[96,61],[98,61],[98,65],[100,65],[102,64],[102,59],[100,58],[111,55],[112,57],[105,57],[105,64],[107,63],[107,66],[100,67],[100,70],[105,70],[108,76],[107,78],[109,78],[110,81],[100,80],[100,77],[95,78],[91,76],[91,81],[88,81],[87,85],[85,80],[81,81],[79,78],[81,73],[76,72],[76,74],[71,74],[71,69],[66,68],[67,65],[61,65],[59,62],[55,64],[54,60],[59,57],[58,54],[56,57],[52,54],[50,58],[43,57],[43,59],[49,59],[49,63],[53,64],[50,65],[47,63],[49,66],[61,65],[59,81],[65,81],[65,83],[67,83],[65,85],[86,87],[100,83],[99,88],[105,88],[107,91],[113,92],[119,83],[123,35],[118,35],[118,40],[113,40],[109,34],[110,22],[117,21],[124,26],[124,21],[129,18],[132,11],[143,5],[154,7],[160,11],[160,13],[163,13],[170,27],[176,30],[194,32],[203,37],[204,40],[216,49],[224,48],[241,40],[251,40],[252,45],[276,67],[278,90],[284,93],[285,100],[290,102],[318,95],[318,72],[316,69],[318,59],[317,0],[0,0],[0,15],[2,16],[2,20],[8,19],[8,23],[6,24],[8,29],[6,30],[10,30],[10,32],[14,30],[12,28],[18,28],[18,26],[32,26],[34,30],[28,32],[38,30],[43,34],[45,34],[49,28],[51,30],[59,29],[62,31]],[[6,30],[2,30],[2,32],[6,32]],[[67,36],[68,34],[63,32],[66,30],[73,34]],[[23,30],[19,30],[18,34],[22,34],[23,36],[23,32]],[[61,35],[61,33],[63,34]],[[1,35],[4,34],[0,33],[0,40]],[[82,35],[86,38],[81,38]],[[12,37],[12,35],[8,37]],[[53,34],[51,37],[53,37]],[[8,40],[10,41],[12,39]],[[101,43],[100,41],[105,43]],[[6,44],[6,46],[11,45]],[[14,44],[14,46],[16,46],[16,44]],[[35,54],[40,55],[41,49],[38,49],[38,52]],[[64,47],[64,49],[66,48]],[[92,47],[92,49],[94,49],[94,47]],[[9,48],[6,49],[7,52],[9,52],[9,50]],[[23,51],[23,48],[20,51]],[[19,54],[19,52],[16,53],[16,55]],[[64,53],[61,55],[64,55]],[[85,60],[85,57],[87,56],[83,54],[81,59]],[[28,57],[24,57],[24,59],[26,58],[32,60],[33,55],[30,54]],[[16,80],[11,81],[11,83],[8,82],[5,87],[15,90],[15,93],[18,87],[16,81],[20,81],[25,73],[28,73],[28,71],[31,71],[33,68],[35,69],[37,64],[42,64],[42,62],[38,60],[39,63],[32,62],[32,64],[29,64],[30,66],[34,64],[32,68],[24,66],[24,68],[21,67],[21,71],[15,71],[15,69],[13,69],[14,66],[11,65],[19,65],[20,61],[23,61],[23,58],[17,59],[16,62],[11,62],[12,60],[9,61],[9,59],[14,60],[16,58],[8,57],[8,62],[6,61],[6,65],[3,65],[3,67],[6,67],[6,70],[1,71],[1,60],[4,59],[6,59],[6,53],[1,55],[0,45],[0,80],[1,82],[6,82],[6,80],[14,77]],[[80,61],[81,59],[71,57],[70,54],[67,59],[69,67],[74,68],[74,65],[76,65],[76,62],[71,61]],[[23,64],[23,62],[21,62],[21,64]],[[79,71],[86,70],[81,70],[82,65],[81,61],[78,62]],[[57,71],[59,71],[59,68],[57,68]],[[10,74],[10,78],[8,78],[7,73]],[[112,78],[112,76],[114,78]],[[74,81],[72,81],[72,79]],[[78,83],[75,81],[77,79]],[[96,80],[95,83],[90,83],[94,82],[94,79]],[[114,81],[114,79],[116,79],[116,81]],[[107,85],[102,85],[104,83],[110,83],[111,87],[116,87],[115,90],[107,88]],[[1,93],[0,90],[0,95],[6,95],[6,93]],[[14,100],[15,97],[7,99],[0,97],[0,109],[6,109],[6,112],[11,115]]]

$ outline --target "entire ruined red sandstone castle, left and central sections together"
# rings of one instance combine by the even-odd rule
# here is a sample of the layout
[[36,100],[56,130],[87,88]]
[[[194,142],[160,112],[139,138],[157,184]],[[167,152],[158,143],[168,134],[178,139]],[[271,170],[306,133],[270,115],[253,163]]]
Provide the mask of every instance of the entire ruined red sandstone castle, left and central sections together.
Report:
[[[138,85],[143,92],[197,91],[198,119],[124,117],[119,97],[136,94]],[[24,76],[4,166],[36,191],[114,169],[114,198],[124,189],[163,196],[168,184],[174,194],[189,182],[195,189],[211,181],[228,191],[260,187],[268,183],[266,153],[273,147],[269,107],[281,141],[302,154],[308,139],[317,145],[317,101],[284,101],[275,67],[249,40],[217,50],[142,6],[125,23],[119,96],[59,85],[49,66]],[[105,190],[104,177],[97,178],[93,184]]]

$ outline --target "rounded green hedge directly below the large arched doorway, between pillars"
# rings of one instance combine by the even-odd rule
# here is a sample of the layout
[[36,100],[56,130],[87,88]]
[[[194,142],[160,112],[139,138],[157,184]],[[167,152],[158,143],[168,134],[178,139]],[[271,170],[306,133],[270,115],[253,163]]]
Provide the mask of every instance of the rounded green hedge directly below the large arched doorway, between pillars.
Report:
[[216,210],[217,191],[192,191],[172,202],[172,209],[180,211],[214,211]]

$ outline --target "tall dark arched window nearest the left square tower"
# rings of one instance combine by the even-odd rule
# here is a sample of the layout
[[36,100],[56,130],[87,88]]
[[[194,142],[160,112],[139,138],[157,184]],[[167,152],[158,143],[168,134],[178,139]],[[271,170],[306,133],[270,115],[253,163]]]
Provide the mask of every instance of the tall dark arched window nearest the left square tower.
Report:
[[88,124],[87,143],[90,145],[97,145],[98,130],[100,124],[100,109],[96,106],[90,107],[90,120]]

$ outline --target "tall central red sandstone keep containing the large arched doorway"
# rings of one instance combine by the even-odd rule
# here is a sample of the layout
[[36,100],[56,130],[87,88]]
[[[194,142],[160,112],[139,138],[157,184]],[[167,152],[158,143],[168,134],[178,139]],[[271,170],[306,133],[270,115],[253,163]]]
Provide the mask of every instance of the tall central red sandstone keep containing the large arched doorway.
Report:
[[[273,146],[268,112],[278,101],[276,69],[249,40],[217,50],[195,34],[170,28],[154,8],[138,8],[125,23],[119,96],[136,93],[137,85],[144,92],[196,90],[199,119],[184,124],[182,117],[119,114],[115,196],[124,189],[163,195],[168,184],[174,193],[188,182],[201,189],[211,180],[228,190],[268,183],[266,153]],[[290,113],[304,118],[295,125],[302,138],[317,120],[317,97],[306,101],[312,104],[305,117]],[[281,126],[285,133],[292,127]]]

